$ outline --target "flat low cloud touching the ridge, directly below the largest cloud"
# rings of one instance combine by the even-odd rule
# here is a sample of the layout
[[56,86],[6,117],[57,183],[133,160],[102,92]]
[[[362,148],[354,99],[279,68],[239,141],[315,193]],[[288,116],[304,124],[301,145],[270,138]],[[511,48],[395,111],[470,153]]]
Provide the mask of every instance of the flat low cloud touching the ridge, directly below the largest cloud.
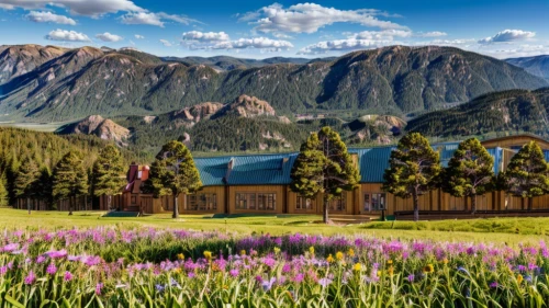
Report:
[[351,52],[359,49],[373,49],[373,48],[380,48],[384,46],[399,45],[399,44],[402,43],[394,41],[372,41],[372,39],[357,39],[357,38],[335,39],[335,41],[318,42],[316,44],[309,45],[302,48],[298,54],[315,55],[315,54],[325,54],[328,52]]

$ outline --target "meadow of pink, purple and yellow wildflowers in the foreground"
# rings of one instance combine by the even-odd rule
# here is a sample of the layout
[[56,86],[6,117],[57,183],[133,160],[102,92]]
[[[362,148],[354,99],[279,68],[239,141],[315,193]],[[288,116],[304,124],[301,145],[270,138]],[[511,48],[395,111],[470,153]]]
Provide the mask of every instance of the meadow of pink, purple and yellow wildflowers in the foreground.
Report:
[[0,307],[548,307],[545,242],[5,230]]

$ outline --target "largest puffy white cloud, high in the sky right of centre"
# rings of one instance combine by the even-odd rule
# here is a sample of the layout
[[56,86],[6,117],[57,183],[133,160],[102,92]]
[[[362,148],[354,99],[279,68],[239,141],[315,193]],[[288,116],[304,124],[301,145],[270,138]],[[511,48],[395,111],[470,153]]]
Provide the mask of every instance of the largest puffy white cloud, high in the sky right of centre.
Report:
[[274,3],[264,7],[257,12],[244,14],[239,21],[255,25],[255,30],[264,33],[314,33],[318,28],[334,23],[356,23],[379,28],[406,28],[390,21],[382,21],[376,10],[338,10],[315,3],[300,3],[284,9]]

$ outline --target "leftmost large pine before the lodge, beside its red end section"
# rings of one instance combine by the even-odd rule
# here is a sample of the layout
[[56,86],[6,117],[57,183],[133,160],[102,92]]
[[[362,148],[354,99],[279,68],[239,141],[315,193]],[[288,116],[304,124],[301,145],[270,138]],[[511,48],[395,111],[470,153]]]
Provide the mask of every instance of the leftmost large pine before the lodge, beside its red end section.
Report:
[[192,194],[202,187],[191,151],[182,142],[175,140],[164,145],[156,156],[147,182],[155,197],[173,196],[173,218],[179,217],[179,195]]

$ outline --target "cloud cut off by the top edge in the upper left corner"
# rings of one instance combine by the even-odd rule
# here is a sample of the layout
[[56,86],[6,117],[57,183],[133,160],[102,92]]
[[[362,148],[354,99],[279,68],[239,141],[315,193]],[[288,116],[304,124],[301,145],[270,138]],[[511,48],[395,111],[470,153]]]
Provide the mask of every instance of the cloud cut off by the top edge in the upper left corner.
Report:
[[66,8],[71,14],[98,18],[107,13],[143,12],[143,8],[130,0],[0,0],[0,8],[13,10],[45,9],[48,5]]

